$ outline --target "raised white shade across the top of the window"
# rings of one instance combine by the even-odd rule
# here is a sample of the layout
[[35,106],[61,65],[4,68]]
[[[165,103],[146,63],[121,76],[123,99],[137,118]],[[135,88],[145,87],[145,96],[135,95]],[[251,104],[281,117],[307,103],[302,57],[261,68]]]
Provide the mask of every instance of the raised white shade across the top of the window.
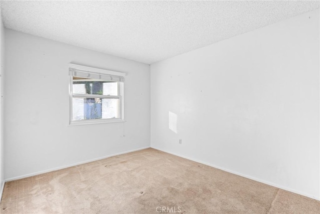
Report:
[[69,64],[69,75],[73,77],[90,78],[114,82],[123,82],[125,73],[108,71],[76,64]]

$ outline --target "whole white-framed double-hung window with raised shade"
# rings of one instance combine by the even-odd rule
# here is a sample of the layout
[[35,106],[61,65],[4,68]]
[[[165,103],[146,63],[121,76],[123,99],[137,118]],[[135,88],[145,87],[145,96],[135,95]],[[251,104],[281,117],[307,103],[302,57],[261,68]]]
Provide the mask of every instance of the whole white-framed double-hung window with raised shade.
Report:
[[123,121],[124,73],[69,64],[70,122]]

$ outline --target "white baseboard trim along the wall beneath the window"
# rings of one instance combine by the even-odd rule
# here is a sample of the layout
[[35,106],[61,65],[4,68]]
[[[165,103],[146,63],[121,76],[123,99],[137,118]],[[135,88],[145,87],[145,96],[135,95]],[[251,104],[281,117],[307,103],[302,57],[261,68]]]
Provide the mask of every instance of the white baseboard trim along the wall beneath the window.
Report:
[[132,150],[124,151],[124,152],[118,152],[118,153],[106,155],[106,156],[103,156],[103,157],[93,158],[93,159],[90,159],[90,160],[80,161],[80,162],[77,162],[77,163],[72,163],[72,164],[68,164],[68,165],[64,165],[64,166],[60,166],[60,167],[55,167],[55,168],[42,170],[42,171],[38,171],[38,172],[33,172],[33,173],[25,174],[25,175],[11,177],[11,178],[5,179],[5,182],[12,181],[12,180],[18,180],[18,179],[22,179],[22,178],[25,178],[25,177],[31,177],[31,176],[34,176],[34,175],[43,174],[43,173],[47,173],[47,172],[51,172],[51,171],[56,171],[56,170],[59,170],[59,169],[65,169],[65,168],[69,168],[69,167],[72,167],[72,166],[77,166],[77,165],[81,165],[81,164],[84,164],[84,163],[89,163],[89,162],[93,162],[93,161],[96,161],[96,160],[102,160],[102,159],[105,159],[105,158],[108,158],[108,157],[113,157],[113,156],[120,155],[120,154],[126,154],[126,153],[130,153],[130,152],[134,152],[134,151],[139,151],[139,150],[147,149],[147,148],[150,148],[150,146],[145,146],[145,147],[132,149]]

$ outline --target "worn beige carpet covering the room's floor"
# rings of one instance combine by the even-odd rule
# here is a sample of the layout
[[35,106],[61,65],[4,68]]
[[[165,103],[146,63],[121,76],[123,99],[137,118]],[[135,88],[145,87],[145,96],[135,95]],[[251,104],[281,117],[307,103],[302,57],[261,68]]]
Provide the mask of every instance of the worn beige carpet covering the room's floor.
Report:
[[[163,208],[163,209],[162,209]],[[7,182],[1,213],[320,213],[320,202],[155,149]]]

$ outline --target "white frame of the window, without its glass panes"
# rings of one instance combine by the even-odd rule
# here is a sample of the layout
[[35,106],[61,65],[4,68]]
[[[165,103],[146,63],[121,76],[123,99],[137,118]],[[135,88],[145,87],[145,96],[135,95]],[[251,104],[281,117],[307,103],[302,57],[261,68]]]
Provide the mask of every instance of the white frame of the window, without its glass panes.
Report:
[[[116,71],[109,71],[104,69],[98,69],[88,66],[76,65],[76,64],[68,64],[69,68],[69,125],[84,125],[84,124],[97,124],[97,123],[114,123],[114,122],[124,122],[124,105],[123,105],[123,80],[125,73],[116,72]],[[73,94],[72,92],[72,85],[73,85],[73,73],[79,72],[86,72],[88,76],[90,74],[94,75],[103,75],[109,76],[111,79],[118,79],[120,81],[116,81],[118,83],[118,96],[109,96],[109,95],[94,95],[94,94]],[[91,120],[72,120],[72,98],[73,97],[80,97],[80,98],[117,98],[119,99],[119,118],[111,118],[111,119],[91,119]]]

